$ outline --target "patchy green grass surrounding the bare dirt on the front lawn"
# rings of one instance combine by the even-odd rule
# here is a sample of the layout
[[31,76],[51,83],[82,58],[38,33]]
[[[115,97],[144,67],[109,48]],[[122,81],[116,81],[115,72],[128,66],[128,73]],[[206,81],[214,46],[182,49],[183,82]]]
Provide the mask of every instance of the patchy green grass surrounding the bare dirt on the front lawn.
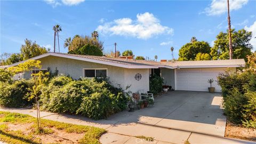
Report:
[[[31,126],[28,127],[29,133],[24,134],[22,131],[9,130],[7,124],[31,124]],[[106,132],[106,130],[97,127],[61,123],[47,119],[41,119],[41,129],[38,130],[36,118],[0,111],[0,141],[6,143],[41,143],[41,140],[36,136],[54,133],[53,128],[67,133],[84,133],[84,137],[79,140],[79,143],[89,144],[100,143],[99,138]]]

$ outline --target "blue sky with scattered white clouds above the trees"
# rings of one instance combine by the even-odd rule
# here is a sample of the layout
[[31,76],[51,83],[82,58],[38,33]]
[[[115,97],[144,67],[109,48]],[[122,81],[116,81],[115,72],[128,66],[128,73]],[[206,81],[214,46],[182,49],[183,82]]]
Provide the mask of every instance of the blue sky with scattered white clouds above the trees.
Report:
[[[0,1],[1,54],[19,52],[24,39],[53,47],[52,27],[59,24],[60,51],[64,40],[99,31],[105,51],[130,49],[135,55],[178,58],[180,47],[196,36],[211,45],[227,29],[226,1]],[[230,0],[231,25],[253,31],[256,37],[256,1]],[[256,40],[251,43],[256,50]]]

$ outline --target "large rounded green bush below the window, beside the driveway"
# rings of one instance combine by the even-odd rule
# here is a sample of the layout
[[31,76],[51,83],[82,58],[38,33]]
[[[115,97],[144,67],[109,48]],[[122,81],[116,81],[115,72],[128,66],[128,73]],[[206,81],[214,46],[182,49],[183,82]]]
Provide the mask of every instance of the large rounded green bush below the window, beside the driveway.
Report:
[[41,94],[41,108],[57,113],[81,114],[102,119],[124,110],[127,94],[105,80],[54,77]]

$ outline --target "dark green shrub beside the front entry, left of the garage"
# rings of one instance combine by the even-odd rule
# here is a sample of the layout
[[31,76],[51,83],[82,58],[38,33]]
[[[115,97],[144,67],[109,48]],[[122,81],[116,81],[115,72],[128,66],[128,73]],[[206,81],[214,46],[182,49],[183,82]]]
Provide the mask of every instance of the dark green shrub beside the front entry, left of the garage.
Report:
[[153,75],[149,78],[149,91],[157,94],[163,90],[164,79],[160,76]]

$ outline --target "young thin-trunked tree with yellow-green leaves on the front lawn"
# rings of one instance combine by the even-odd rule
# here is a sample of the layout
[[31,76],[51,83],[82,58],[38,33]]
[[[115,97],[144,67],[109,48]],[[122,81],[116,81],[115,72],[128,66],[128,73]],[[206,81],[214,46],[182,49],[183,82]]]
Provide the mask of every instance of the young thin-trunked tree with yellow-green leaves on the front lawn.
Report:
[[20,63],[18,66],[10,67],[9,70],[13,71],[14,73],[20,73],[22,71],[33,71],[34,73],[31,74],[31,77],[34,80],[34,85],[29,91],[29,100],[35,99],[36,101],[36,114],[37,114],[37,128],[40,132],[41,130],[41,119],[40,119],[40,108],[39,108],[39,95],[41,94],[42,84],[47,81],[46,75],[49,75],[49,73],[43,73],[42,71],[39,71],[39,73],[36,73],[36,69],[41,69],[42,66],[40,65],[41,61],[39,60],[28,60],[24,63]]

